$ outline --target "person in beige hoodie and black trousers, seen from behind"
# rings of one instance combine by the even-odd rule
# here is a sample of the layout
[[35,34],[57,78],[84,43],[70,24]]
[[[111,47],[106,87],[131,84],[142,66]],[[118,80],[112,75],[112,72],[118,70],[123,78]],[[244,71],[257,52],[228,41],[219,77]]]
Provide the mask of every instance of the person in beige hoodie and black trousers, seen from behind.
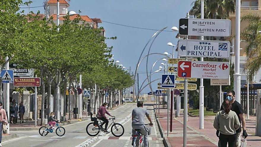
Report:
[[231,110],[231,104],[228,99],[222,103],[224,110],[220,110],[214,120],[214,128],[219,131],[219,142],[221,147],[235,147],[237,134],[236,130],[240,127],[237,114]]

